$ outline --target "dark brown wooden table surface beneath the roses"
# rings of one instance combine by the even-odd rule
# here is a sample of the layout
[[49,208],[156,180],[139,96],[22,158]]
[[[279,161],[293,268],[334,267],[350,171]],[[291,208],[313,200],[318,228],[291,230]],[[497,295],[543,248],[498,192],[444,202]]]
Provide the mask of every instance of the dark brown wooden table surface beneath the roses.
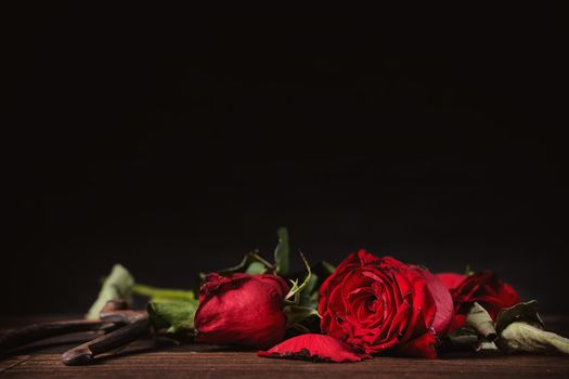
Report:
[[[50,317],[51,318],[51,317]],[[61,317],[56,317],[61,318]],[[46,317],[41,318],[46,321]],[[52,318],[53,319],[53,318]],[[7,329],[35,319],[3,319]],[[548,329],[568,336],[569,317],[546,318]],[[67,367],[61,353],[85,336],[43,341],[0,357],[2,378],[569,378],[569,356],[452,353],[439,360],[378,356],[352,364],[260,358],[254,352],[204,344],[154,348],[142,340],[89,366]]]

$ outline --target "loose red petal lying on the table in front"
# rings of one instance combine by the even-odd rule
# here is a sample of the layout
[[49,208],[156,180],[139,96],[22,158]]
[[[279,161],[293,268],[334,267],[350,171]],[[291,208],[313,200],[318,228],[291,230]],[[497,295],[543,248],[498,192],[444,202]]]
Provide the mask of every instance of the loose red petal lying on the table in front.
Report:
[[315,334],[293,337],[268,351],[259,351],[257,355],[312,362],[360,362],[372,357],[335,338]]

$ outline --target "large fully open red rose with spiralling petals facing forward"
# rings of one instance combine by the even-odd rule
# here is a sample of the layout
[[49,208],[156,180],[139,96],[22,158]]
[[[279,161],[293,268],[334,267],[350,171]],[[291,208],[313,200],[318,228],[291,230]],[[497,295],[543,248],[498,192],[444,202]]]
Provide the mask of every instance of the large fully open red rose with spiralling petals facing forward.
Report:
[[454,311],[449,290],[428,271],[360,250],[322,285],[319,313],[325,334],[367,354],[391,349],[436,357]]

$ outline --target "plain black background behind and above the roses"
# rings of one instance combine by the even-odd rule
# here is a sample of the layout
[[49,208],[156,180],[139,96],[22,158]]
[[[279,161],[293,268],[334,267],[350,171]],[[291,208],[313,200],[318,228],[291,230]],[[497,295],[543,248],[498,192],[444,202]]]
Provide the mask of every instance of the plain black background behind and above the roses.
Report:
[[117,6],[3,15],[2,313],[83,312],[115,262],[189,287],[280,225],[312,262],[493,269],[569,313],[558,10]]

